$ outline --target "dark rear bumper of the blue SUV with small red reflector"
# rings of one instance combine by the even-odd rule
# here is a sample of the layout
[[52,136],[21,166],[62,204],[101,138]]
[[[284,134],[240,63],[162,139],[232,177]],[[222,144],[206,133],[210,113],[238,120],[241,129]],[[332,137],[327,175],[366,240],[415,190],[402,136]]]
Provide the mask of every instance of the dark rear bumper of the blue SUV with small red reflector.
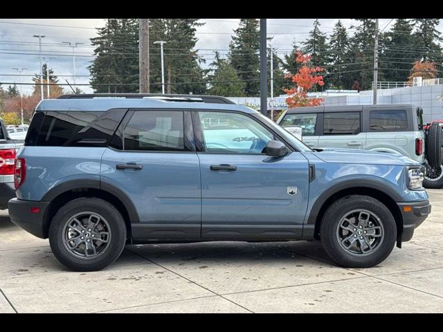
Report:
[[[12,223],[23,228],[26,232],[46,239],[47,230],[44,228],[44,213],[49,202],[23,201],[11,199],[8,202],[9,216]],[[31,208],[39,208],[38,213],[32,213]]]

